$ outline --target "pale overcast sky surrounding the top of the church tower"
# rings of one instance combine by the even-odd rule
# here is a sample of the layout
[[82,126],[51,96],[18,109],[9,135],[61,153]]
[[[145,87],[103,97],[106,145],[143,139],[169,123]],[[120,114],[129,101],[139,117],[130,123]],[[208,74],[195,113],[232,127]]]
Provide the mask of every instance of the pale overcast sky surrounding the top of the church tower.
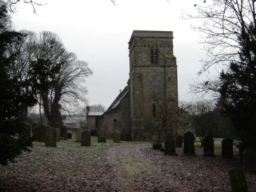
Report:
[[[196,21],[182,19],[182,10],[193,11],[198,0],[41,0],[45,6],[20,3],[13,15],[16,30],[57,33],[65,47],[89,63],[90,104],[108,107],[129,79],[128,41],[133,30],[174,32],[180,100],[191,100],[189,83],[197,78],[204,57],[200,34],[190,28]],[[200,1],[201,2],[201,1]]]

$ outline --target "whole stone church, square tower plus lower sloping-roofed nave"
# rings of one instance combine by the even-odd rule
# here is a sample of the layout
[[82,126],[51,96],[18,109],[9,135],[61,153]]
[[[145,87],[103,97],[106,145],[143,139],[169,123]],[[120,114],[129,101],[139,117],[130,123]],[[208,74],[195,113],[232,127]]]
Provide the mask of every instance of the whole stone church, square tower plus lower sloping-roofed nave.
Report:
[[[173,38],[171,31],[133,31],[129,41],[129,80],[108,110],[95,116],[94,129],[105,130],[107,137],[119,131],[122,140],[155,139],[158,127],[154,118],[158,109],[152,95],[172,97],[178,106]],[[164,134],[168,132],[177,135],[178,126],[166,129]]]

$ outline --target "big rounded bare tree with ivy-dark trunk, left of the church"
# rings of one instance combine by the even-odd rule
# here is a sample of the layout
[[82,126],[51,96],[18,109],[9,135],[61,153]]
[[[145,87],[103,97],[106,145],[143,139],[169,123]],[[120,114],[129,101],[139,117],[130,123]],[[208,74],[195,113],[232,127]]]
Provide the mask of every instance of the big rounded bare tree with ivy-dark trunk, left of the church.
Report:
[[92,74],[88,63],[68,52],[57,34],[43,31],[34,44],[34,74],[40,98],[51,126],[62,124],[60,111],[75,112],[86,102],[85,78]]

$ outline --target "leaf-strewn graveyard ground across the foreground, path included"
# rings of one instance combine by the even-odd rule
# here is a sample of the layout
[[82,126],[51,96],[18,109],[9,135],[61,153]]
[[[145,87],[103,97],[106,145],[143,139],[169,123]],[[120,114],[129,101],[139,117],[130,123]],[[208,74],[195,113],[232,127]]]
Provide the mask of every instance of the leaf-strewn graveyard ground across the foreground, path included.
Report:
[[[0,191],[231,191],[228,170],[238,168],[233,159],[221,158],[221,139],[215,139],[216,157],[204,157],[195,143],[197,156],[164,155],[152,150],[152,142],[121,141],[81,146],[72,139],[46,147],[34,142],[31,153],[16,163],[0,166]],[[256,174],[246,173],[249,191],[256,191]]]

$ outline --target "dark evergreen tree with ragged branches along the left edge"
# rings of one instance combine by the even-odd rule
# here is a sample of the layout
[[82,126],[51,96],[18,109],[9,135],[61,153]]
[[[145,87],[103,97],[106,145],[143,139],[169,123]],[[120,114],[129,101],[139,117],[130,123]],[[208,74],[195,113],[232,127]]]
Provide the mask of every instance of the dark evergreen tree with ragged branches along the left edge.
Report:
[[32,139],[17,138],[17,134],[25,129],[25,123],[20,114],[23,112],[23,104],[32,106],[36,99],[31,92],[26,92],[24,87],[29,81],[18,81],[11,78],[8,66],[12,65],[18,53],[6,56],[7,46],[14,41],[23,38],[23,34],[6,30],[6,18],[8,11],[5,5],[0,5],[0,164],[6,165],[8,160],[14,158],[23,151],[30,151]]

